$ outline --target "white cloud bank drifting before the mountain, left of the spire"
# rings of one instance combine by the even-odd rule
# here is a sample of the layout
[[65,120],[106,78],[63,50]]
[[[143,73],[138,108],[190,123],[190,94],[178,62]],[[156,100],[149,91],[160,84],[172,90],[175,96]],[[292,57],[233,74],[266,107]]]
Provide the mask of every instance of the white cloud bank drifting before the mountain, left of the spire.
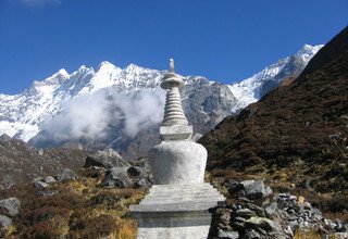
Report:
[[42,129],[54,142],[82,138],[100,141],[112,137],[114,128],[135,137],[144,127],[162,121],[164,99],[161,89],[129,95],[99,90],[65,102]]

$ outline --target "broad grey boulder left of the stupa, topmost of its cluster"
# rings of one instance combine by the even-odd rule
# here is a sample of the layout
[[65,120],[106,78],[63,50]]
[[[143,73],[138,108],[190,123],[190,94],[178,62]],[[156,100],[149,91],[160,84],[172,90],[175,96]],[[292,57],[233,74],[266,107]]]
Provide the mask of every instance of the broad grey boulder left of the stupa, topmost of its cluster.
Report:
[[113,149],[105,149],[86,158],[84,167],[91,166],[99,166],[110,169],[112,167],[129,167],[130,164],[123,160]]

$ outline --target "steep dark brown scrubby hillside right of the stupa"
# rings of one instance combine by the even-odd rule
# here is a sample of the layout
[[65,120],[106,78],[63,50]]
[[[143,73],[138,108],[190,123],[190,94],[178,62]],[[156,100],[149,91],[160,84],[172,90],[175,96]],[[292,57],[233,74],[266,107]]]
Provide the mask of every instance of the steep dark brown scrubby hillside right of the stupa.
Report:
[[347,83],[345,28],[297,79],[226,117],[200,140],[211,176],[220,185],[233,177],[264,178],[276,190],[306,194],[321,209],[347,212]]

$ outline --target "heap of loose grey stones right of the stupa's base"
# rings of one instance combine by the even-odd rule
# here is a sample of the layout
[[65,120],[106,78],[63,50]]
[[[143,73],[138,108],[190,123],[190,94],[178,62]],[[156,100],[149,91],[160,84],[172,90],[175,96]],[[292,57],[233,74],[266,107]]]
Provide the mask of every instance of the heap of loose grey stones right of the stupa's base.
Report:
[[233,199],[210,210],[210,239],[348,237],[348,222],[323,217],[301,196],[273,193],[262,180],[231,180],[228,191]]

